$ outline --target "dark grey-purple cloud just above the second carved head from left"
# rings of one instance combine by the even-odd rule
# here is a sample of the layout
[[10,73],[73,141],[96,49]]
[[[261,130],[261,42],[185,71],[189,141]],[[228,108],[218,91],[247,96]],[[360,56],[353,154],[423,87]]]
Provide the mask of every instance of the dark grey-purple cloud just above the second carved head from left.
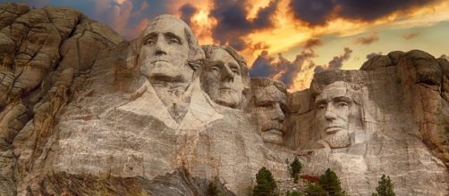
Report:
[[246,1],[214,0],[214,7],[210,17],[217,20],[212,29],[212,37],[220,45],[231,45],[238,51],[248,46],[243,37],[258,29],[267,29],[274,26],[272,16],[279,0],[272,1],[267,7],[258,10],[254,20],[247,20],[247,11],[244,8]]

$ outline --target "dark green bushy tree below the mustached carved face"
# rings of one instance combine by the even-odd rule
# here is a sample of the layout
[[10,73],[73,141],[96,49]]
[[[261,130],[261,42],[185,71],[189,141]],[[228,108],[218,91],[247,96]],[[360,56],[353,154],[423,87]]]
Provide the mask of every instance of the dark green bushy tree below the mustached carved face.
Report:
[[258,170],[258,174],[256,175],[256,182],[257,184],[253,189],[254,196],[275,195],[275,189],[277,187],[275,178],[266,167],[262,167],[260,170]]

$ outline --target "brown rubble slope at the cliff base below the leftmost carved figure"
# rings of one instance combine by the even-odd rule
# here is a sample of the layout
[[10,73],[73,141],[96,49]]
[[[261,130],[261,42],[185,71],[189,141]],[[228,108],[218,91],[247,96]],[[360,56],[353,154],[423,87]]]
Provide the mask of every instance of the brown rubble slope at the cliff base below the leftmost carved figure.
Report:
[[[208,180],[192,177],[185,168],[148,180],[142,176],[91,176],[71,175],[64,172],[47,175],[38,192],[43,195],[166,195],[166,196],[208,196],[209,184],[224,196],[234,196],[217,179]],[[28,190],[31,190],[29,188]]]

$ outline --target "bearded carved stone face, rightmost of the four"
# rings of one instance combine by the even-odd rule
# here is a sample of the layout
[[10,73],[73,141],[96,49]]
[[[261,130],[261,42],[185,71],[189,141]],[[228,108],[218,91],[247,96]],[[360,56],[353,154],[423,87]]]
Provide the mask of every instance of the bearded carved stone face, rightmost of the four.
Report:
[[331,148],[351,145],[348,130],[352,106],[350,91],[347,83],[339,81],[326,86],[315,99],[318,132]]

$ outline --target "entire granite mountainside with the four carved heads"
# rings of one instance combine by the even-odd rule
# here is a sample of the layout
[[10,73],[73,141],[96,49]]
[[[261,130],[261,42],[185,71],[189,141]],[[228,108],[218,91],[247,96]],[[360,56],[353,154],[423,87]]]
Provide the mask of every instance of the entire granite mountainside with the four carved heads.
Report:
[[261,167],[336,171],[352,195],[449,194],[449,62],[376,56],[309,89],[250,78],[162,15],[123,41],[82,13],[0,4],[0,195],[247,195]]

